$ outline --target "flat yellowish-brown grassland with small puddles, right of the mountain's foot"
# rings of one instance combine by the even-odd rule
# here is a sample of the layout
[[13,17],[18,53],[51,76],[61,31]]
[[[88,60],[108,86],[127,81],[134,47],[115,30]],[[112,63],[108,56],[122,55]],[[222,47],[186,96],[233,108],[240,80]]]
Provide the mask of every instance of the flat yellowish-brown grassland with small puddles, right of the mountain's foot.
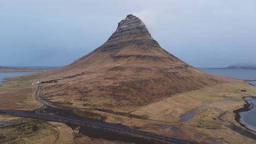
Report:
[[[245,89],[246,92],[241,92]],[[109,123],[119,123],[130,128],[156,133],[169,137],[178,137],[197,143],[255,143],[256,133],[243,128],[234,119],[234,110],[245,104],[244,96],[256,95],[256,87],[250,86],[242,80],[222,83],[213,87],[206,87],[196,91],[179,93],[146,106],[126,111],[113,109],[116,112],[97,111],[98,108],[89,107],[92,112],[104,115]],[[71,105],[72,106],[72,105]],[[202,108],[199,108],[202,106]],[[86,105],[84,106],[86,107]],[[183,121],[188,111],[198,110],[188,121]],[[130,115],[144,116],[145,119],[131,118],[118,115],[119,112],[129,112]],[[168,128],[158,127],[166,125]],[[176,132],[175,132],[176,130]],[[199,135],[200,138],[195,135]]]

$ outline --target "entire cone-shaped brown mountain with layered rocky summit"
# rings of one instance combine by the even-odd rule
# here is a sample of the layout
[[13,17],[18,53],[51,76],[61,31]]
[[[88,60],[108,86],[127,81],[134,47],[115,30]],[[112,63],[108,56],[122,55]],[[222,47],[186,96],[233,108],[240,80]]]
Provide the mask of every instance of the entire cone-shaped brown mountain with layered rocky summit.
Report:
[[45,101],[112,108],[143,106],[225,82],[162,49],[133,15],[121,20],[102,46],[48,73],[46,80],[60,80],[43,86]]

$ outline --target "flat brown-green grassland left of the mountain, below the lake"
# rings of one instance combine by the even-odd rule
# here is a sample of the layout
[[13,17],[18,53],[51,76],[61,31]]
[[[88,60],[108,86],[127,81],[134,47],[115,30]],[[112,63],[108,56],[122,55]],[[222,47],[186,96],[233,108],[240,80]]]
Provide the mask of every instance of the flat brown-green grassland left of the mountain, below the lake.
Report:
[[34,94],[37,85],[31,85],[45,77],[46,73],[9,77],[0,83],[0,109],[33,110],[41,106]]

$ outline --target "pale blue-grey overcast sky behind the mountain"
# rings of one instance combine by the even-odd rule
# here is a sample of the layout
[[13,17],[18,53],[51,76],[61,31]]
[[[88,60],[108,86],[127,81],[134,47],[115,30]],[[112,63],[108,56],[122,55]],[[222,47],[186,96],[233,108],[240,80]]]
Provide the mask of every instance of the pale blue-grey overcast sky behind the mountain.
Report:
[[256,63],[255,0],[0,0],[0,65],[69,64],[106,42],[128,14],[194,67]]

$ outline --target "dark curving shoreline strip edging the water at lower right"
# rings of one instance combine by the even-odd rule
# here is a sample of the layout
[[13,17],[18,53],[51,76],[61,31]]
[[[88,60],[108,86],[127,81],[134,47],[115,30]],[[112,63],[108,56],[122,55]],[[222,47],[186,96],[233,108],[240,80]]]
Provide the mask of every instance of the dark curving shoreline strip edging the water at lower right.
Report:
[[256,129],[251,127],[251,125],[246,124],[245,122],[242,121],[242,117],[240,115],[241,112],[249,111],[253,108],[253,104],[251,104],[249,101],[246,100],[246,98],[253,98],[256,99],[255,96],[251,97],[242,97],[243,100],[245,100],[246,104],[243,105],[241,109],[234,110],[233,112],[235,113],[235,121],[238,122],[242,127],[245,127],[248,130],[256,132]]

